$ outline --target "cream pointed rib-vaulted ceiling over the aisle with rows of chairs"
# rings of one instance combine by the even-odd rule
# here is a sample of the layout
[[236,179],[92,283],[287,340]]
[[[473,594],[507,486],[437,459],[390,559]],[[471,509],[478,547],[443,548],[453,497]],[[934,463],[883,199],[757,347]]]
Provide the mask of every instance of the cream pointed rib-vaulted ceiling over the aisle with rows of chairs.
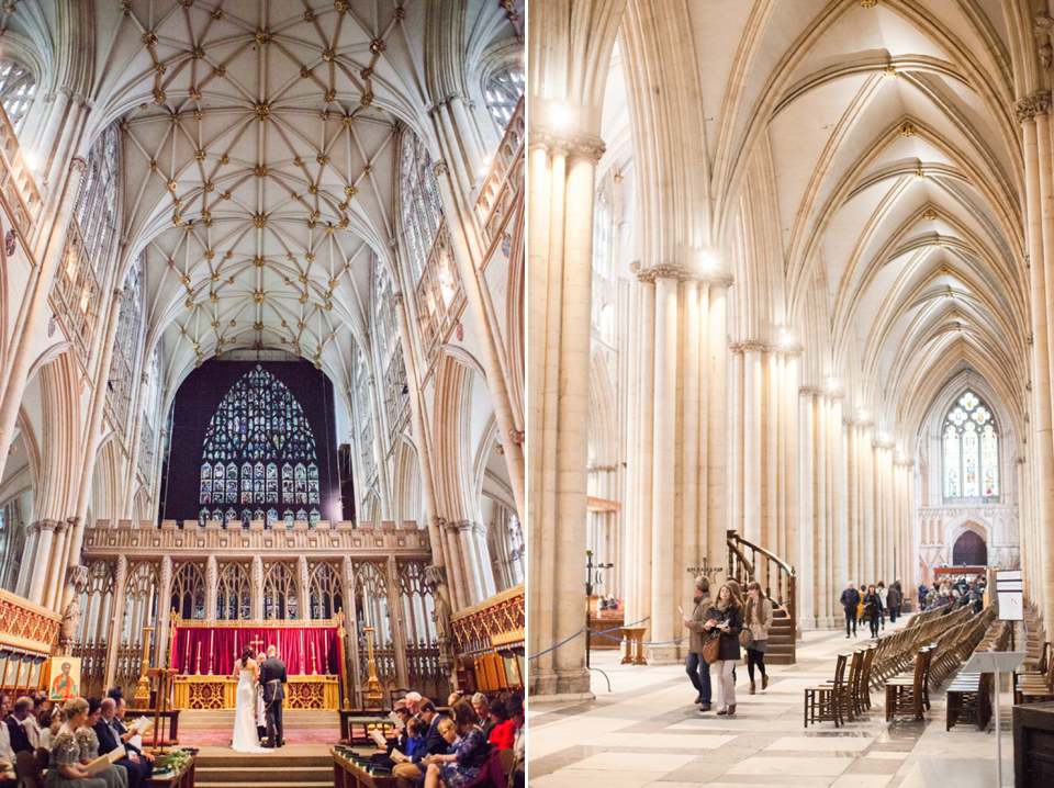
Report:
[[[906,440],[963,365],[1020,417],[1031,328],[1013,103],[1036,89],[1022,75],[1050,19],[997,0],[689,0],[686,18],[646,5],[631,0],[621,27],[602,172],[661,193],[635,166],[662,142],[635,121],[662,101],[657,83],[676,85],[676,114],[702,125],[694,149],[668,155],[700,160],[695,222],[740,249],[726,260],[733,336],[794,331],[804,383],[838,378],[849,408],[877,408]],[[671,20],[691,36],[663,37]]]

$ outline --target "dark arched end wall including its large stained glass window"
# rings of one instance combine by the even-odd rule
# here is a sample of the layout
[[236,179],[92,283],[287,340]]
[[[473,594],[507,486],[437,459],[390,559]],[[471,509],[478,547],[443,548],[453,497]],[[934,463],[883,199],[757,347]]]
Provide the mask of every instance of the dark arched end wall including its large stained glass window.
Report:
[[343,519],[333,386],[306,361],[210,360],[176,394],[161,518]]

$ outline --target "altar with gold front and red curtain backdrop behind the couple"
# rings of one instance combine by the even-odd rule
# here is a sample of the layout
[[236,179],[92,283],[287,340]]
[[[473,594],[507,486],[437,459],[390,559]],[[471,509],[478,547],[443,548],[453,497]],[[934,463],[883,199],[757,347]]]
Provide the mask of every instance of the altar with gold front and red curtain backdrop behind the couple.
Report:
[[238,679],[235,663],[245,646],[254,655],[278,650],[289,676],[288,709],[339,709],[344,676],[344,612],[333,619],[238,620],[182,619],[172,611],[169,661],[172,708],[233,709]]

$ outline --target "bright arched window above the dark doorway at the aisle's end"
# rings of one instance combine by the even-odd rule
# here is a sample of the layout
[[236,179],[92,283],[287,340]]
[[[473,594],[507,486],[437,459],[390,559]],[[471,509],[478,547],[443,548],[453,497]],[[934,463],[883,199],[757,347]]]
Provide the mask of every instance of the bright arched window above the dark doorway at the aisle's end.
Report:
[[999,497],[999,430],[991,410],[972,391],[944,417],[944,497]]

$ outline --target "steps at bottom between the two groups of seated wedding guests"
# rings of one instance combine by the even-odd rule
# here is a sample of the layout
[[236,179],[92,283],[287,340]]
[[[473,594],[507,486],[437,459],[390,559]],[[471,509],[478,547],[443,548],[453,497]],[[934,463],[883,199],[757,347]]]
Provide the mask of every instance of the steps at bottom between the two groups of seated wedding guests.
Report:
[[333,758],[319,747],[282,747],[280,752],[259,755],[208,747],[198,755],[194,785],[195,788],[322,788],[333,786]]

